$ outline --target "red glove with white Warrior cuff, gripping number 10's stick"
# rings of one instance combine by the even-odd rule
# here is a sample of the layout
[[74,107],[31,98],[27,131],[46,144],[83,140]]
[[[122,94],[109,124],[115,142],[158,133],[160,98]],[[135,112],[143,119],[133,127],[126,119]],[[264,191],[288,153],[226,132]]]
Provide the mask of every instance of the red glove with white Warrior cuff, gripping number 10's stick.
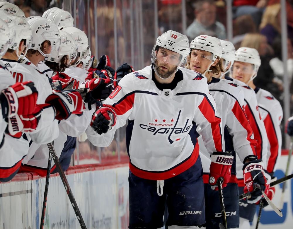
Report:
[[217,182],[222,180],[222,187],[226,187],[231,177],[233,155],[231,151],[214,152],[211,155],[212,163],[209,167],[209,185],[213,190],[218,190]]

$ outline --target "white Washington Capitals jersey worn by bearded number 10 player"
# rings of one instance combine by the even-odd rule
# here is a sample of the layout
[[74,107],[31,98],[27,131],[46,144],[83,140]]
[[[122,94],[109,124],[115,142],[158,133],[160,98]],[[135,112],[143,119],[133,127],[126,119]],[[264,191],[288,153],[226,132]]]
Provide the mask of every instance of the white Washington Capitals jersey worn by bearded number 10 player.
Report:
[[87,135],[94,145],[105,146],[129,119],[126,144],[130,170],[145,179],[166,180],[197,160],[197,126],[210,154],[223,150],[224,139],[205,77],[179,68],[175,78],[180,81],[173,90],[160,90],[152,80],[153,74],[147,66],[124,76],[104,102],[104,106],[115,110],[116,125],[100,137],[93,129]]

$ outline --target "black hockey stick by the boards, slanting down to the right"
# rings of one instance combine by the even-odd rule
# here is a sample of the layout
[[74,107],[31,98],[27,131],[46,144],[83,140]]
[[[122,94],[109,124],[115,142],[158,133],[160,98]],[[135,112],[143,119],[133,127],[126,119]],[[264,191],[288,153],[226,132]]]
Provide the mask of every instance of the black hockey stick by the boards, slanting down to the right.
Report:
[[81,216],[81,213],[79,211],[79,208],[78,208],[78,206],[76,204],[76,201],[74,199],[74,196],[73,196],[72,191],[70,189],[70,186],[68,184],[67,178],[66,178],[66,176],[65,176],[65,174],[64,174],[64,172],[63,172],[63,170],[61,168],[61,165],[60,165],[60,162],[59,162],[57,153],[56,153],[56,151],[54,149],[54,146],[52,145],[52,143],[47,143],[47,146],[49,148],[50,154],[52,155],[52,158],[54,160],[54,163],[56,165],[56,168],[57,168],[57,170],[59,172],[60,178],[61,178],[61,180],[62,180],[62,182],[64,184],[65,190],[67,192],[67,195],[69,197],[69,200],[70,200],[71,205],[73,207],[73,210],[75,212],[76,218],[79,221],[80,227],[81,227],[81,229],[86,229],[86,225],[84,223],[84,219]]

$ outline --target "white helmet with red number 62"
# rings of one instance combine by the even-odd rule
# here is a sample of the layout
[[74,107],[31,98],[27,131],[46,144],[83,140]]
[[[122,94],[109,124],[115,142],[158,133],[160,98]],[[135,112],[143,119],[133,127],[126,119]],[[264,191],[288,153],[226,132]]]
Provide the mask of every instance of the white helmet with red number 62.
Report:
[[217,57],[222,57],[221,41],[217,37],[209,35],[200,35],[190,42],[190,49],[199,49],[212,53],[212,64]]

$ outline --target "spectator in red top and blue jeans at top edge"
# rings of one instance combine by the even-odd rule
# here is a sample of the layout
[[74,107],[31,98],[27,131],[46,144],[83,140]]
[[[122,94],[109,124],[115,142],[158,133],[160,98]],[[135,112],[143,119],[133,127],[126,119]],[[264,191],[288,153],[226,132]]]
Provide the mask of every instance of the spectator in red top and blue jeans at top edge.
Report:
[[233,18],[249,14],[252,16],[256,27],[258,27],[267,4],[268,0],[234,0]]

